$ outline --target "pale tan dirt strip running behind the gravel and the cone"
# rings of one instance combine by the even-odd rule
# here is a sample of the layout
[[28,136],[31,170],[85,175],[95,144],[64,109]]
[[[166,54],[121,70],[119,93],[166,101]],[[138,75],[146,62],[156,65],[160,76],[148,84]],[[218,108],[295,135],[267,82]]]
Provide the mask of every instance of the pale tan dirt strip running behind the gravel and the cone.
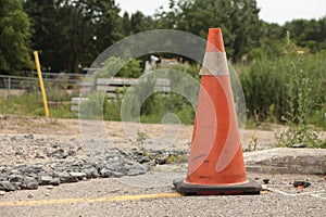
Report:
[[[80,125],[87,125],[87,128],[80,128]],[[118,148],[125,151],[130,149],[139,149],[139,143],[136,143],[139,139],[139,135],[130,135],[131,131],[139,126],[122,123],[122,122],[95,122],[90,120],[82,123],[79,119],[57,119],[45,117],[30,117],[30,116],[17,116],[17,115],[0,115],[0,139],[5,136],[28,136],[33,135],[34,138],[47,139],[60,141],[61,143],[70,143],[73,141],[74,145],[82,150],[78,152],[78,156],[87,154],[86,150],[93,149],[92,141],[100,141],[101,138],[110,140],[110,148]],[[156,150],[189,150],[192,137],[192,125],[162,125],[162,124],[141,124],[142,130],[148,136],[143,139],[143,146],[147,149]],[[104,128],[104,129],[103,129]],[[279,135],[284,130],[284,126],[275,124],[262,124],[255,129],[240,130],[241,143],[243,151],[254,150],[254,137],[256,137],[256,150],[272,149],[276,146],[277,140],[275,135]],[[105,135],[106,133],[106,135]],[[103,135],[105,135],[103,137]],[[326,132],[323,135],[323,139],[326,139]],[[51,142],[50,141],[50,142]],[[106,145],[105,142],[98,142]],[[25,143],[26,145],[26,143]],[[37,163],[37,157],[23,157],[16,155],[8,155],[13,150],[21,149],[17,146],[9,145],[5,142],[0,143],[0,163],[15,164],[23,163]],[[35,152],[33,145],[26,145],[22,149],[26,152]],[[39,149],[47,149],[40,146]],[[29,151],[28,151],[29,150]],[[41,151],[41,150],[39,150]],[[21,158],[20,158],[21,157]]]

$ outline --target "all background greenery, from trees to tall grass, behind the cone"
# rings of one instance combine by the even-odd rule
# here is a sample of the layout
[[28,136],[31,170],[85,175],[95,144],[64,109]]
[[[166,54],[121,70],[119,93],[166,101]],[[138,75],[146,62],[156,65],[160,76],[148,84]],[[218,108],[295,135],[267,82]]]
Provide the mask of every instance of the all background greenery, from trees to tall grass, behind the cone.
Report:
[[[209,27],[221,27],[228,60],[241,80],[249,123],[290,126],[279,136],[280,143],[286,137],[292,142],[304,140],[300,138],[311,135],[311,125],[326,129],[326,14],[319,20],[293,20],[284,25],[266,23],[260,20],[255,0],[171,0],[168,11],[158,10],[152,16],[139,11],[120,12],[114,0],[2,0],[0,73],[30,76],[26,72],[34,68],[34,50],[39,51],[43,68],[50,72],[84,73],[83,68],[89,67],[103,49],[133,34],[167,28],[206,38]],[[178,58],[171,53],[160,55]],[[148,58],[130,60],[118,76],[139,77]],[[184,60],[190,65],[173,69],[199,80],[197,63],[185,56]],[[118,59],[105,64],[108,68],[122,67]],[[105,77],[105,73],[103,67],[97,77]],[[60,102],[50,106],[53,117],[76,117],[70,112],[72,95],[50,85],[46,89],[49,101]],[[37,91],[1,98],[0,112],[42,115],[40,100]],[[102,106],[95,103],[97,100],[88,104],[91,102],[89,108]],[[120,120],[121,104],[121,99],[104,100],[99,111],[104,111],[105,119]],[[175,93],[156,93],[147,99],[141,120],[158,123],[167,112],[177,114],[184,124],[193,122],[193,108]]]

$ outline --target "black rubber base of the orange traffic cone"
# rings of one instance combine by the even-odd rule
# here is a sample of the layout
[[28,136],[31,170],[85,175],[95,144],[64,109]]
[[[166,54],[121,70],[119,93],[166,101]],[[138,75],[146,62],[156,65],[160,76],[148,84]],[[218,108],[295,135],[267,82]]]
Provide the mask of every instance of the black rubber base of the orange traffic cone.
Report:
[[261,184],[253,180],[239,184],[191,184],[184,179],[173,180],[175,189],[185,195],[231,195],[231,194],[259,194]]

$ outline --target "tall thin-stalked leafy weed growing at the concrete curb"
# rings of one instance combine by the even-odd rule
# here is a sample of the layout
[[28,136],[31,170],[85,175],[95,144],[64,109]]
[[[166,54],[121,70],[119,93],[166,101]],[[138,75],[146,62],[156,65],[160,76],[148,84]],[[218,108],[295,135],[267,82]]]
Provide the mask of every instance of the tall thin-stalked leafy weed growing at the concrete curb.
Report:
[[285,76],[288,80],[286,85],[286,116],[283,116],[283,120],[288,128],[284,130],[279,136],[276,135],[279,146],[292,146],[296,143],[306,143],[308,146],[322,148],[322,141],[318,139],[318,135],[308,125],[308,115],[311,111],[311,82],[306,74],[304,73],[304,60],[303,51],[300,51],[291,43],[289,34],[287,35],[287,50],[293,49],[298,54],[297,62],[288,63],[288,71]]

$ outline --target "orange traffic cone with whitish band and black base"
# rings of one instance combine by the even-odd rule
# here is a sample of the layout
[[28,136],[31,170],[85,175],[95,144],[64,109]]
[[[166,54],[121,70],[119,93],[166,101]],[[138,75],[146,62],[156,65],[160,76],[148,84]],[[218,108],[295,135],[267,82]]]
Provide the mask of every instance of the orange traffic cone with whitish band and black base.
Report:
[[210,28],[184,194],[253,194],[262,187],[246,177],[222,31]]

